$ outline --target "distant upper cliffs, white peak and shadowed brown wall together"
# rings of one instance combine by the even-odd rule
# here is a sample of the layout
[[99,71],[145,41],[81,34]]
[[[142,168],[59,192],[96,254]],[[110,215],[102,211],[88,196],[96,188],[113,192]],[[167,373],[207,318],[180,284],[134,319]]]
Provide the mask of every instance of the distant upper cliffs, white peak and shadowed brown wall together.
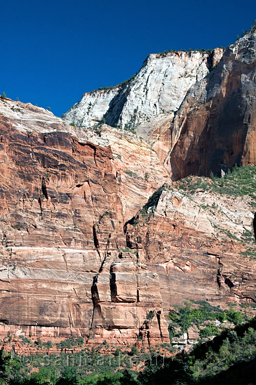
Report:
[[[112,90],[102,116],[112,126],[136,130],[173,180],[210,171],[220,175],[236,163],[255,164],[255,74],[253,27],[224,54],[215,49],[149,55],[131,83]],[[80,124],[93,103],[86,94],[65,119],[77,117]]]

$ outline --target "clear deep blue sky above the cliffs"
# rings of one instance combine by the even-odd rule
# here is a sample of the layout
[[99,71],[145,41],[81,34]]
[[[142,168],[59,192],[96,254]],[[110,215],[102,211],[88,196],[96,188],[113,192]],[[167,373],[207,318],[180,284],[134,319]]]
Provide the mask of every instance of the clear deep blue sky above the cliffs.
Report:
[[255,0],[2,0],[0,93],[61,115],[148,53],[227,46],[254,19]]

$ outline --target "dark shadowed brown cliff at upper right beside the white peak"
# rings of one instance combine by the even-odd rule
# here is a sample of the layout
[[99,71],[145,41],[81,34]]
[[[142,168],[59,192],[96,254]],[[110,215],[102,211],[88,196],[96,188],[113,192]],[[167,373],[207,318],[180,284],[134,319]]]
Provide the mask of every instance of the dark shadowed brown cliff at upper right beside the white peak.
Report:
[[165,166],[173,179],[220,175],[255,164],[256,31],[229,46],[214,70],[191,87],[170,126]]

